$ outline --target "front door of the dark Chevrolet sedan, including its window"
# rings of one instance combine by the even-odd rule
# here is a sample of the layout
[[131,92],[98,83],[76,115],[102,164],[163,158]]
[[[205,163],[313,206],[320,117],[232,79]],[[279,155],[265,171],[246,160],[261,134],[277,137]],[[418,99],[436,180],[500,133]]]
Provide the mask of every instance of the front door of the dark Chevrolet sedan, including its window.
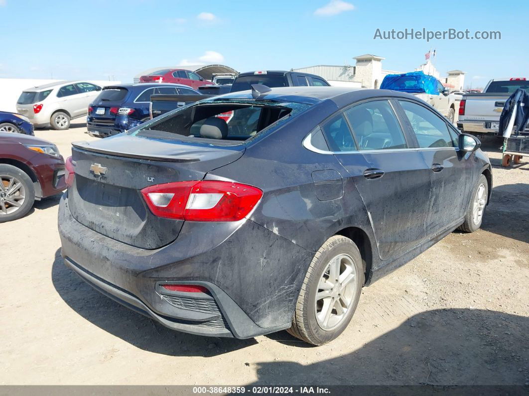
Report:
[[427,232],[433,235],[461,219],[472,188],[470,155],[459,151],[458,135],[444,117],[411,100],[398,101],[406,127],[414,135],[429,168],[432,200],[427,211]]

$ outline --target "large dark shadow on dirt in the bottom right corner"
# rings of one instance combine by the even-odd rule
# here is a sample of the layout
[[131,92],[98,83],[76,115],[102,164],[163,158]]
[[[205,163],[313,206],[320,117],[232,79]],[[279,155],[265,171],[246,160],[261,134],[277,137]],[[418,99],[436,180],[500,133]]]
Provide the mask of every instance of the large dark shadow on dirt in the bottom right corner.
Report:
[[[265,362],[258,384],[523,385],[529,318],[488,310],[422,312],[357,351],[321,362]],[[279,334],[279,333],[278,333]],[[337,353],[346,334],[325,352]]]

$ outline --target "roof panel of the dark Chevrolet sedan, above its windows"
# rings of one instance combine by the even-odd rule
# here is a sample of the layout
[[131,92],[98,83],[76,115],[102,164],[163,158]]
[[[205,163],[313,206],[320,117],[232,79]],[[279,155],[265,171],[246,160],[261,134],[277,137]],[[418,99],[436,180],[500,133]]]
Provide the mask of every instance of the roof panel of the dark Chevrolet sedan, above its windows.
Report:
[[[311,99],[312,103],[323,102],[324,100],[332,100],[338,107],[348,105],[349,103],[358,100],[372,98],[372,97],[403,97],[403,98],[417,98],[405,92],[393,91],[389,89],[367,89],[367,88],[351,88],[351,87],[278,87],[270,88],[266,94],[259,96],[259,99],[270,99],[284,102],[307,102],[306,99]],[[215,99],[251,99],[252,91],[239,91],[222,96]]]

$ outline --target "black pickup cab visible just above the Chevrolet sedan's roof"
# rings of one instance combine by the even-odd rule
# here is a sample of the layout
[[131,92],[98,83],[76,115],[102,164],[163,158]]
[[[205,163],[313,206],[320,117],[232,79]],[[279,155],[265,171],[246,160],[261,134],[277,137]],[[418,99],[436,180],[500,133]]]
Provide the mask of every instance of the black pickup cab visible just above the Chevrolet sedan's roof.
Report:
[[281,70],[257,70],[240,73],[233,81],[231,92],[252,89],[253,84],[267,87],[328,87],[330,84],[324,78],[309,73]]

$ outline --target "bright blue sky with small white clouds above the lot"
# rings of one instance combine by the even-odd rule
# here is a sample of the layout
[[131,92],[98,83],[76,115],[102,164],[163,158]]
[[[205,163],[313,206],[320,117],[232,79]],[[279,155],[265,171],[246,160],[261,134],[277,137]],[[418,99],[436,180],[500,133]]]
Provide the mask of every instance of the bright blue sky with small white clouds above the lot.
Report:
[[[364,53],[385,57],[384,69],[413,71],[432,47],[442,74],[464,70],[476,87],[529,77],[528,14],[526,0],[0,0],[0,78],[129,82],[183,61],[250,71],[354,65]],[[423,27],[500,31],[501,40],[373,40],[377,28]]]

